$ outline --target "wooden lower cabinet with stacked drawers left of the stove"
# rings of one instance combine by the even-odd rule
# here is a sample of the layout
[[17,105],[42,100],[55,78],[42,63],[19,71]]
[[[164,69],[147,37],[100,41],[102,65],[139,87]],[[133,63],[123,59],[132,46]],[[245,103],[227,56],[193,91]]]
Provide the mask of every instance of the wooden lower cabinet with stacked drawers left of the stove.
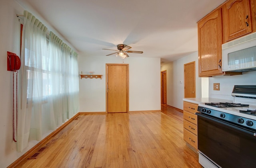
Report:
[[183,127],[184,127],[184,141],[190,146],[198,149],[197,139],[197,112],[198,104],[183,102]]

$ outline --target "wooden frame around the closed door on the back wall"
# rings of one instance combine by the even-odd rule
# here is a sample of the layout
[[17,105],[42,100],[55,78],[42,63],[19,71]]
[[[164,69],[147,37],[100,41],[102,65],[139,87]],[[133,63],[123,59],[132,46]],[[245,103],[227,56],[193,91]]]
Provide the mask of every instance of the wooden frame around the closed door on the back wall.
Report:
[[129,112],[129,64],[106,64],[106,113],[108,113],[108,65],[127,66],[127,113]]

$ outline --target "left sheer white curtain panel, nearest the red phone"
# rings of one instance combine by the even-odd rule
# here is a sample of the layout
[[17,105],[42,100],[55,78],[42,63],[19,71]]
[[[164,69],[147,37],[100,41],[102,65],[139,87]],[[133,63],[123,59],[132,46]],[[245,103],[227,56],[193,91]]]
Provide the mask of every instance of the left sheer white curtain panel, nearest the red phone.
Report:
[[[21,51],[21,76],[18,103],[17,150],[28,145],[29,136],[41,139],[42,56],[46,50],[47,28],[24,11]],[[32,89],[31,89],[32,88]]]

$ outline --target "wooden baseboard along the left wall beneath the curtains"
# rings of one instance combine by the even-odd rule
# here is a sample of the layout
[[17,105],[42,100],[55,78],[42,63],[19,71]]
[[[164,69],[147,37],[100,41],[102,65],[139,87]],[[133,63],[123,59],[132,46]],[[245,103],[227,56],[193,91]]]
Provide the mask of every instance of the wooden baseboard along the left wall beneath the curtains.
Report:
[[32,156],[36,151],[38,151],[41,146],[46,143],[46,141],[48,141],[48,139],[50,139],[51,137],[53,137],[54,135],[56,135],[60,130],[62,130],[64,127],[66,127],[66,125],[68,125],[74,118],[76,118],[79,115],[79,113],[77,113],[76,115],[74,115],[72,118],[70,118],[68,121],[66,121],[65,123],[63,123],[60,127],[58,127],[55,131],[53,131],[52,133],[50,133],[47,137],[45,137],[44,139],[42,139],[42,141],[40,141],[38,144],[36,144],[34,147],[32,147],[30,150],[28,150],[28,152],[24,153],[22,156],[20,156],[20,158],[18,158],[17,160],[15,160],[12,164],[10,164],[7,168],[13,168],[16,167],[20,162],[22,162],[23,160],[26,160],[28,158],[30,158],[30,156]]

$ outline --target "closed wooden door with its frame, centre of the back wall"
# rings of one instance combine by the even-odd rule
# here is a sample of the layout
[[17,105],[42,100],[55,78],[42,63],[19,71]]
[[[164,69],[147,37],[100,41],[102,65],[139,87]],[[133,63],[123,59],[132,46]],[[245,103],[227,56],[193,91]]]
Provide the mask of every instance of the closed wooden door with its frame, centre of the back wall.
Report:
[[106,110],[128,112],[128,64],[106,64]]

